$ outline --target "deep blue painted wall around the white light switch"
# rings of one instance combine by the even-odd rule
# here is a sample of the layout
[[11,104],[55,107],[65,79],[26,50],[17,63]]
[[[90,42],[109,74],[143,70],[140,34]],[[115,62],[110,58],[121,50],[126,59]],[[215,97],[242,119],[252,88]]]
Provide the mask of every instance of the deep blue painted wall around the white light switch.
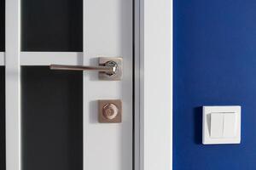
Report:
[[[241,144],[201,144],[202,105],[241,105]],[[256,1],[174,0],[174,170],[256,169]]]

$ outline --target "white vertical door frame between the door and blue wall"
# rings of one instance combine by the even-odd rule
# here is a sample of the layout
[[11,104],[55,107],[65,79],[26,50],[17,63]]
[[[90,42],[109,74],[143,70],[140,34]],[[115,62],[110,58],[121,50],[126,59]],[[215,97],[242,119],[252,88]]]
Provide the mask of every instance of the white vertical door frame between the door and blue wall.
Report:
[[136,170],[172,170],[172,0],[135,0]]

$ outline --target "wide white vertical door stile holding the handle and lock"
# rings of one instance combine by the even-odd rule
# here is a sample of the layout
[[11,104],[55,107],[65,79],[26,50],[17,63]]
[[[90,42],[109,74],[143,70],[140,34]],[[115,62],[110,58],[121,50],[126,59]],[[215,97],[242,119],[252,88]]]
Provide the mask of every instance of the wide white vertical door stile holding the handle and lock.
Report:
[[[132,169],[132,0],[84,0],[84,65],[98,57],[123,59],[121,81],[101,81],[84,71],[84,170]],[[99,123],[97,102],[122,100],[122,122]]]

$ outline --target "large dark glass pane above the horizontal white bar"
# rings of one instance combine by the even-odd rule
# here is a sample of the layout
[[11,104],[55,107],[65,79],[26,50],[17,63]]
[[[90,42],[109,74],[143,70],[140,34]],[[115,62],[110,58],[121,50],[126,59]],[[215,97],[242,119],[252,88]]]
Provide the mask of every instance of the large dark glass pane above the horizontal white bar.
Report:
[[83,50],[83,0],[22,0],[23,51]]

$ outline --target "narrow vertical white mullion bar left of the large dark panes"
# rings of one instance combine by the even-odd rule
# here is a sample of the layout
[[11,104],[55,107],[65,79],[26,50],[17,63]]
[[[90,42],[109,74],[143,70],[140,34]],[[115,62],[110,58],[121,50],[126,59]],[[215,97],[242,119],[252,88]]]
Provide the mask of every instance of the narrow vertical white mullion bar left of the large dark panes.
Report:
[[20,170],[20,0],[6,0],[6,170]]

